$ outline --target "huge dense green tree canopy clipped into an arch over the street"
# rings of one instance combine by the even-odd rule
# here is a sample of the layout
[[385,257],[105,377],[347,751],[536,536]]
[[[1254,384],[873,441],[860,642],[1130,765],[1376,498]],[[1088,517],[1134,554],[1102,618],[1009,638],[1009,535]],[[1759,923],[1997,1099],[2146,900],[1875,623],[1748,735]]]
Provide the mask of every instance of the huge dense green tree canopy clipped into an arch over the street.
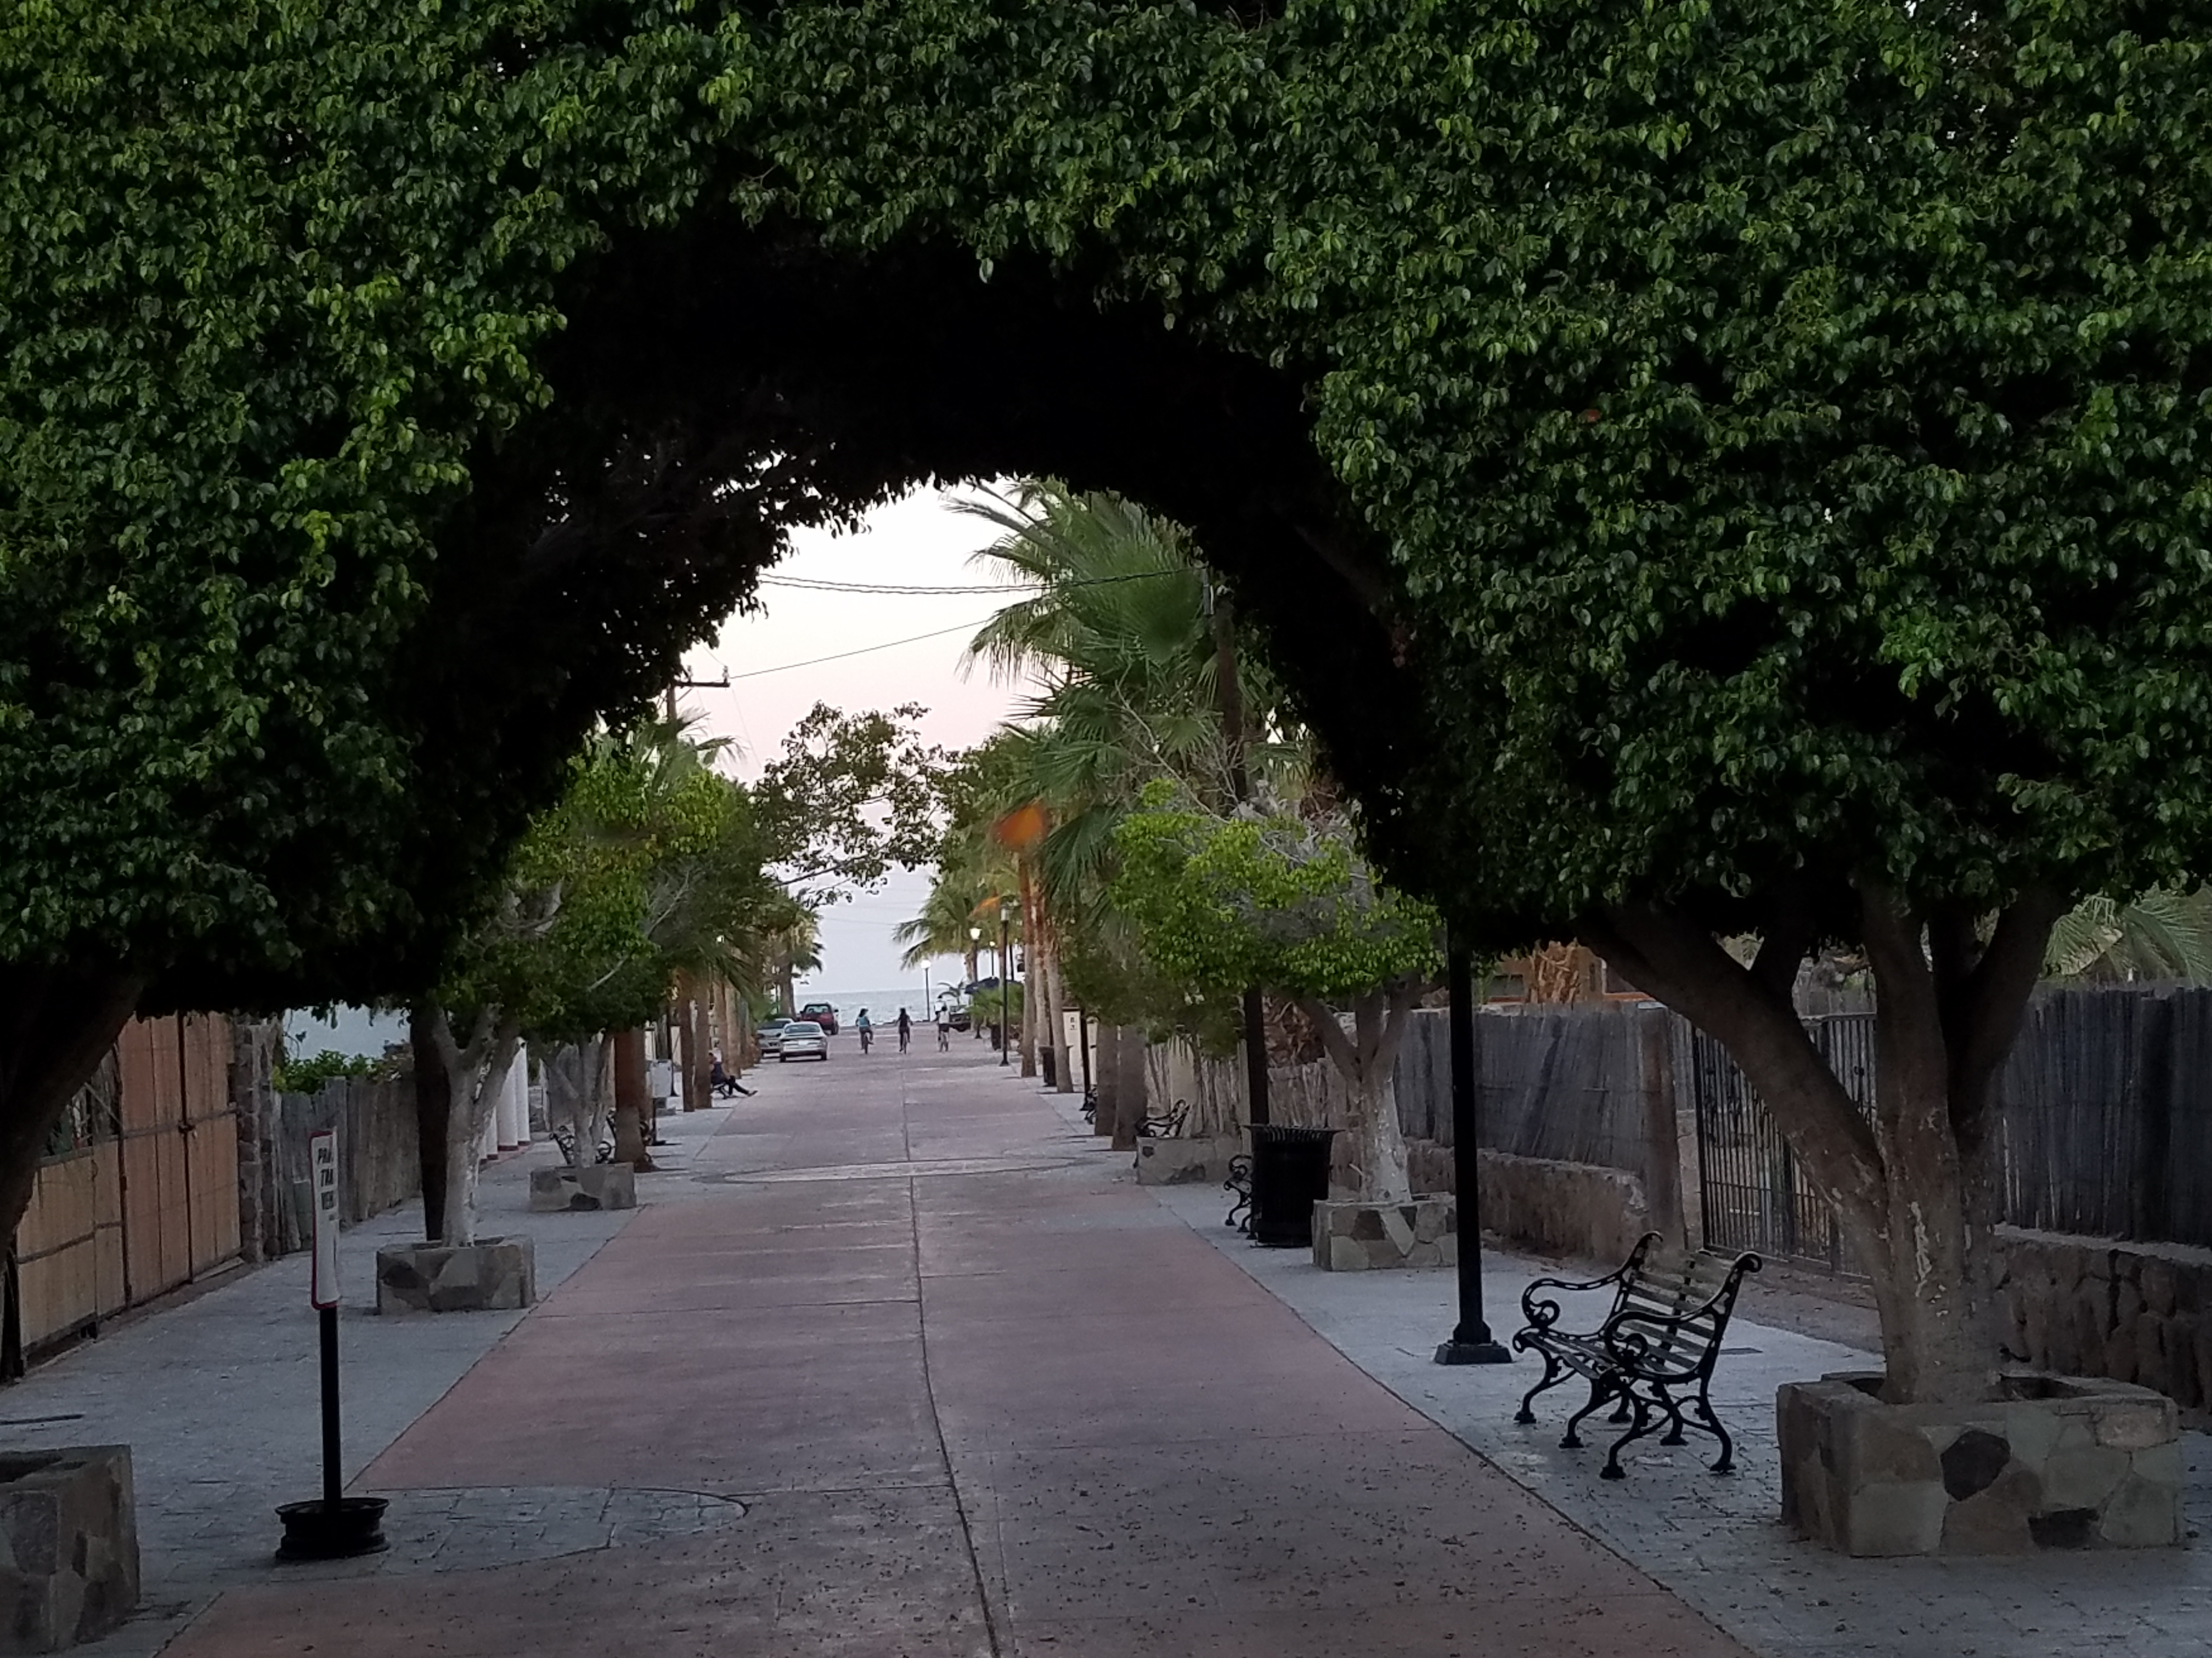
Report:
[[785,528],[1051,471],[1197,531],[1400,884],[1728,1039],[1891,1384],[1982,1386],[2048,917],[2212,871],[2203,57],[2057,0],[18,9],[0,1220],[139,995],[416,975]]

